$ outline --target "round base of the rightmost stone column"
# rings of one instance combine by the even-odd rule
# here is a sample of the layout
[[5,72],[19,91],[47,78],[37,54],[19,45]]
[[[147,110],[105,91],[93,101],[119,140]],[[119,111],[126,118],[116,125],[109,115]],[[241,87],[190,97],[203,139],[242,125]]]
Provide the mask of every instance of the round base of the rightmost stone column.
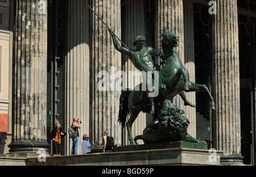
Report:
[[221,155],[220,163],[221,165],[244,165],[243,158],[241,154]]

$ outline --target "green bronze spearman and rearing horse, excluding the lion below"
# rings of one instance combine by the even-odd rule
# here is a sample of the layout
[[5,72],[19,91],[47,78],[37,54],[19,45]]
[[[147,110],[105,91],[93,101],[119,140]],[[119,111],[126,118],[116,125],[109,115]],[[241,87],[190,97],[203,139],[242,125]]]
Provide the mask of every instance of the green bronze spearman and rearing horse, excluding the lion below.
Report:
[[[110,34],[112,33],[113,31],[110,30]],[[159,53],[150,47],[142,47],[144,43],[142,44],[139,40],[137,41],[137,43],[140,43],[138,44],[140,45],[139,48],[137,47],[135,50],[126,50],[125,48],[120,47],[114,35],[112,36],[115,48],[118,51],[127,54],[136,68],[139,70],[145,69],[146,71],[159,71],[159,94],[153,97],[153,101],[152,98],[148,98],[147,91],[143,90],[123,90],[120,96],[118,121],[122,123],[122,126],[124,127],[127,114],[130,114],[130,118],[126,124],[130,144],[136,144],[133,136],[131,135],[131,126],[134,120],[137,118],[139,112],[154,112],[154,122],[159,118],[161,110],[163,109],[164,100],[169,99],[172,101],[174,96],[178,94],[184,100],[184,104],[186,106],[189,105],[191,107],[195,107],[195,105],[187,100],[184,91],[207,92],[210,98],[210,108],[215,109],[214,99],[212,95],[210,95],[208,87],[189,81],[189,73],[181,63],[179,54],[177,54],[174,49],[177,47],[179,42],[179,37],[177,37],[174,33],[170,33],[168,30],[165,30],[164,34],[162,35],[163,39]],[[160,58],[160,67],[156,65],[154,61],[152,61],[151,54]],[[142,88],[142,83],[139,85],[139,87]],[[183,111],[181,110],[180,113],[183,113]]]

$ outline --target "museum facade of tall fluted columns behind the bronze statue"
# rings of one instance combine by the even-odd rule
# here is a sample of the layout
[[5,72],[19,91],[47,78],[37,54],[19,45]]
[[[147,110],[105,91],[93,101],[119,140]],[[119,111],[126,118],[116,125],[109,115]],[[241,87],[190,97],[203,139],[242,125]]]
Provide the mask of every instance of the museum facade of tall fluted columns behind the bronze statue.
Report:
[[[108,130],[118,145],[129,144],[117,121],[121,91],[99,90],[100,73],[115,83],[125,71],[129,88],[142,80],[88,5],[129,48],[138,35],[156,50],[164,29],[179,36],[190,80],[207,85],[216,103],[210,109],[205,92],[189,92],[192,108],[176,96],[188,133],[223,151],[221,163],[255,165],[255,0],[0,0],[0,153],[48,149],[56,121],[67,132],[73,117],[82,118],[80,142],[89,134],[102,146]],[[151,120],[141,113],[133,136]],[[72,140],[62,141],[69,155]]]

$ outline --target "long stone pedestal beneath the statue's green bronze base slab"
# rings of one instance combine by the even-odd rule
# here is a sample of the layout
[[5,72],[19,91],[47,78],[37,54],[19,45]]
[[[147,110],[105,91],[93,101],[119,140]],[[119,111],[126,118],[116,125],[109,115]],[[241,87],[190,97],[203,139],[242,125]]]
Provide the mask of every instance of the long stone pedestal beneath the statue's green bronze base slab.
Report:
[[26,165],[213,166],[220,165],[221,153],[221,151],[212,152],[206,149],[175,147],[167,149],[119,151],[116,153],[95,153],[46,157],[46,162],[38,162],[37,158],[27,158]]

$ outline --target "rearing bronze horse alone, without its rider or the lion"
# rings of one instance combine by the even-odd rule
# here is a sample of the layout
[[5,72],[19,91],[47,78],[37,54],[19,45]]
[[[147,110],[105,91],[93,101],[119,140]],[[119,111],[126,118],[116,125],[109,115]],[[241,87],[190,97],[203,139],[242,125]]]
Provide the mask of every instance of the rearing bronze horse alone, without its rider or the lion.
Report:
[[[184,100],[185,105],[195,107],[185,98],[185,92],[191,91],[205,91],[207,92],[210,100],[210,108],[215,109],[215,104],[209,89],[205,85],[199,85],[189,81],[188,70],[184,68],[180,61],[179,54],[175,51],[174,47],[177,47],[179,37],[174,33],[170,33],[168,30],[162,35],[162,46],[160,48],[160,60],[161,66],[159,71],[159,94],[154,98],[155,102],[155,114],[153,119],[158,119],[160,110],[163,105],[163,101],[166,98],[173,99],[177,94]],[[141,84],[142,85],[142,84]],[[142,99],[138,99],[142,98]],[[127,121],[127,131],[129,133],[130,144],[136,144],[131,134],[131,126],[139,115],[139,112],[149,113],[151,108],[150,101],[145,91],[122,91],[120,96],[119,116],[118,121],[125,126],[127,114],[130,114],[130,118]],[[182,110],[180,110],[182,112]]]

